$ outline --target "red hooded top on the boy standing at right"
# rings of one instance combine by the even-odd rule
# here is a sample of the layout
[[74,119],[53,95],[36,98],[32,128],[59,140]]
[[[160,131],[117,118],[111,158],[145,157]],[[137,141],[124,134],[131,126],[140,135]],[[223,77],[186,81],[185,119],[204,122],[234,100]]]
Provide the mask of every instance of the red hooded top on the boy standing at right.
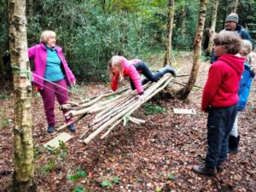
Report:
[[203,111],[207,112],[209,106],[224,108],[238,102],[237,91],[245,61],[236,55],[225,54],[212,64],[201,100]]

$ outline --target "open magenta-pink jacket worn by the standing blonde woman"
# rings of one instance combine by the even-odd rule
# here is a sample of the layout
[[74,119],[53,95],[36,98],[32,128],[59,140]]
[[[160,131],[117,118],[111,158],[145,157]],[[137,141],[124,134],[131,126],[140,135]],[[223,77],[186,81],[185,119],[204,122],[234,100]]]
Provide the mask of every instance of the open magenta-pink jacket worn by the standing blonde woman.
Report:
[[[57,55],[61,59],[62,67],[65,72],[67,85],[75,81],[75,77],[67,66],[67,61],[62,53],[61,47],[55,46]],[[28,57],[34,61],[35,71],[32,71],[32,84],[38,86],[40,90],[44,90],[44,73],[46,68],[47,50],[44,44],[36,44],[28,49]],[[38,77],[39,76],[39,77]]]

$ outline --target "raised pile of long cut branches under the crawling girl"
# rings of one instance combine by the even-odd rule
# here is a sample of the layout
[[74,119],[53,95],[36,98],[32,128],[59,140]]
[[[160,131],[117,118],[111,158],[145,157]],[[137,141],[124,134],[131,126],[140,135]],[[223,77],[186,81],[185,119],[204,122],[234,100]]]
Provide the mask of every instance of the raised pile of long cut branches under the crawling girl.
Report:
[[128,120],[137,124],[142,124],[144,121],[142,119],[132,118],[131,113],[137,110],[137,108],[140,108],[144,102],[148,102],[148,100],[158,94],[160,90],[165,89],[172,79],[172,75],[166,73],[166,75],[157,82],[148,82],[148,84],[145,84],[143,86],[145,100],[143,101],[138,100],[137,91],[131,90],[130,86],[127,85],[117,91],[110,91],[91,98],[90,100],[68,102],[60,108],[61,110],[68,110],[65,114],[66,117],[73,118],[74,120],[73,122],[62,125],[57,131],[90,115],[92,118],[88,121],[90,122],[88,124],[89,129],[80,136],[80,138],[84,138],[90,131],[90,135],[83,140],[84,143],[88,144],[102,131],[105,131],[105,133],[102,134],[101,138],[107,137],[109,132],[113,131],[113,129],[121,124],[122,121],[124,121],[124,125]]

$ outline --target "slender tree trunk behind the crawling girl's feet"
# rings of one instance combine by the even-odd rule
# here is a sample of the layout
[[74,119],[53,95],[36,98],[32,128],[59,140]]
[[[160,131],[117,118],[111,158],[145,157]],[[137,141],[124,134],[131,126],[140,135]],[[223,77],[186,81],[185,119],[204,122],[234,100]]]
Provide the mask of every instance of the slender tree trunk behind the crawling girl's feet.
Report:
[[170,53],[171,53],[171,49],[172,49],[172,26],[173,26],[173,17],[174,17],[174,0],[169,0],[168,8],[169,8],[169,12],[168,12],[169,20],[168,20],[168,24],[167,24],[166,54],[164,57],[164,65],[163,65],[164,67],[168,63],[170,63],[170,65],[172,64],[170,62]]

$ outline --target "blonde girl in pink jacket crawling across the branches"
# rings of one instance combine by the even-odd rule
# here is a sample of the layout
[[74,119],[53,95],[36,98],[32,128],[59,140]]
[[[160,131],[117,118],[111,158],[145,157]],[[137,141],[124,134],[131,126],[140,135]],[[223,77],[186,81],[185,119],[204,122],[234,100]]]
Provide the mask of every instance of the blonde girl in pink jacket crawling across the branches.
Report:
[[[161,68],[157,73],[151,73],[148,66],[144,61],[133,59],[128,61],[124,56],[113,55],[108,61],[108,68],[111,79],[111,89],[117,90],[119,79],[130,77],[131,88],[136,88],[137,93],[140,95],[140,100],[143,100],[143,84],[147,84],[148,81],[156,82],[166,73],[172,73],[175,76],[175,71],[170,66]],[[146,79],[141,81],[139,73],[142,73]]]

